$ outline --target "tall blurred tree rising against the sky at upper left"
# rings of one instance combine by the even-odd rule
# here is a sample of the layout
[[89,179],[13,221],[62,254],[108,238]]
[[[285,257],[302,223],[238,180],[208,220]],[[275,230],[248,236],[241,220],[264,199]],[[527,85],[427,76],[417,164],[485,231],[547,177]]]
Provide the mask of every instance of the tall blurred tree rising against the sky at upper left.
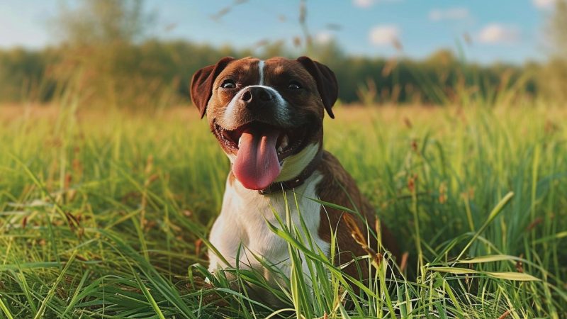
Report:
[[63,5],[53,20],[64,57],[59,81],[83,100],[105,106],[140,106],[160,99],[162,83],[146,77],[139,45],[154,14],[142,0],[81,0]]

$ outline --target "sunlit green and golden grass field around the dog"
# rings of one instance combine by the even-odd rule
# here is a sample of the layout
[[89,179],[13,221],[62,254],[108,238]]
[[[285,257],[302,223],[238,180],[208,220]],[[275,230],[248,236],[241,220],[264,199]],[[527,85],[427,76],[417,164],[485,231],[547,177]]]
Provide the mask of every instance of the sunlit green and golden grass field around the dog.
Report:
[[203,282],[229,164],[193,108],[0,107],[0,318],[567,318],[567,109],[496,104],[336,106],[325,147],[408,259],[358,296],[309,254],[284,310]]

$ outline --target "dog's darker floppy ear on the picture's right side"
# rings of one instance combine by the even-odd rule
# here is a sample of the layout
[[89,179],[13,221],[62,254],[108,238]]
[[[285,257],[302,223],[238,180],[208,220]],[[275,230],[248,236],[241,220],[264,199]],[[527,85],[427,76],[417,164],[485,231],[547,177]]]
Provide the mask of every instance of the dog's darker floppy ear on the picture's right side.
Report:
[[297,60],[317,82],[317,89],[323,101],[323,106],[325,106],[325,110],[327,110],[329,116],[335,118],[335,114],[332,113],[331,109],[339,96],[339,84],[337,83],[335,73],[326,65],[313,61],[309,57],[298,57]]

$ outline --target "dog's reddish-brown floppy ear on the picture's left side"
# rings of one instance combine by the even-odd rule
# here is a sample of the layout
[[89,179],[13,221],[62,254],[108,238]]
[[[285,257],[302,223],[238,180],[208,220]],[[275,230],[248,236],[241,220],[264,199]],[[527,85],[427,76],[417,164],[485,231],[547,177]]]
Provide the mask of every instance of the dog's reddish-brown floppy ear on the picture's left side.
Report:
[[213,95],[213,83],[215,79],[233,60],[235,60],[234,57],[223,57],[216,65],[203,67],[203,69],[198,70],[193,74],[193,77],[191,77],[191,101],[193,101],[193,104],[199,109],[201,118],[205,116],[208,100],[210,100],[210,96]]

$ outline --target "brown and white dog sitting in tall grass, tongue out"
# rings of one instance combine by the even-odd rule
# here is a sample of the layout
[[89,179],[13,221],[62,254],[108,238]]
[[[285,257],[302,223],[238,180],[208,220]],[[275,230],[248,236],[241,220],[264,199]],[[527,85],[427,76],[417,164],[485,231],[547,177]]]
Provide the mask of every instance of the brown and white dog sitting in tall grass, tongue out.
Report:
[[[366,254],[344,221],[344,214],[349,213],[312,199],[359,211],[374,228],[374,209],[339,161],[322,149],[323,116],[327,111],[334,118],[332,106],[337,94],[335,74],[309,57],[265,61],[225,57],[193,75],[191,99],[201,117],[207,115],[210,129],[231,164],[223,207],[210,233],[210,243],[230,266],[235,267],[242,247],[240,267],[259,269],[270,279],[257,260],[260,256],[289,274],[286,242],[266,223],[278,225],[275,213],[286,219],[285,197],[291,201],[288,209],[293,223],[302,229],[301,212],[315,245],[327,255],[331,232],[335,233],[337,264]],[[364,221],[352,217],[366,234]],[[381,238],[396,254],[395,241],[386,228],[382,228]],[[376,247],[376,239],[370,247]],[[228,266],[213,252],[208,257],[210,272]],[[303,272],[308,274],[305,266]],[[354,264],[346,272],[359,277]]]

